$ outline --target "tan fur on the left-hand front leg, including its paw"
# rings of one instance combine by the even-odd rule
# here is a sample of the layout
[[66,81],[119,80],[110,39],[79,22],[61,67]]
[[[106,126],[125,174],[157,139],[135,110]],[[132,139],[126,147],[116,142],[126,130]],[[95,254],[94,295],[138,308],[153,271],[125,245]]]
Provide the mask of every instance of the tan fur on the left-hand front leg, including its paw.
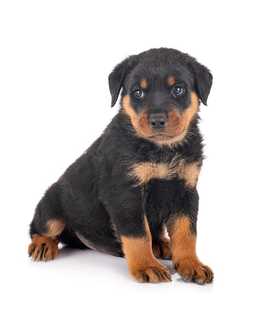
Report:
[[128,262],[129,272],[140,283],[169,282],[170,272],[154,258],[146,218],[144,218],[144,226],[146,235],[142,238],[122,236],[123,252]]

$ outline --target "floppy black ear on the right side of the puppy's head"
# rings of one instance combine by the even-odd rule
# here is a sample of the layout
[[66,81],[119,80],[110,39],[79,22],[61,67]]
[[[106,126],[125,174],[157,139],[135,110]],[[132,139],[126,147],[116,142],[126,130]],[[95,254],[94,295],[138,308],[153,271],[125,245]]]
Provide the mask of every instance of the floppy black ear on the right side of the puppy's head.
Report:
[[196,92],[202,103],[207,105],[207,98],[212,86],[213,76],[206,66],[200,64],[191,56],[188,58],[188,66],[191,68],[191,72],[194,75]]

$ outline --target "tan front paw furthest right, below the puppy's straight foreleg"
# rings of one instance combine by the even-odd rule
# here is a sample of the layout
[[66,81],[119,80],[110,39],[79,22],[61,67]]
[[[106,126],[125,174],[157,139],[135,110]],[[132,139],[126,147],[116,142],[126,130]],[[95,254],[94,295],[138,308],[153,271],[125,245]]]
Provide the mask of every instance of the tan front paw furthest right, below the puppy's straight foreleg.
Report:
[[213,271],[199,260],[184,260],[175,262],[173,265],[176,272],[187,283],[194,281],[199,285],[205,285],[213,282]]

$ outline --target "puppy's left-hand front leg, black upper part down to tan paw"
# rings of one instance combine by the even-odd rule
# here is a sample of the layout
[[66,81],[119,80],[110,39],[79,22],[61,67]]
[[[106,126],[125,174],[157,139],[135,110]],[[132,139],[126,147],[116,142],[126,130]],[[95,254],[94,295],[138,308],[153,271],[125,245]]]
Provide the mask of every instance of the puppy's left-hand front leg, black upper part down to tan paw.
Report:
[[[128,191],[122,192],[124,189]],[[108,201],[104,198],[105,205],[121,241],[132,277],[139,283],[170,282],[169,270],[153,255],[152,237],[140,189],[134,182],[131,184],[128,179],[121,178],[120,184],[113,183],[108,192]]]

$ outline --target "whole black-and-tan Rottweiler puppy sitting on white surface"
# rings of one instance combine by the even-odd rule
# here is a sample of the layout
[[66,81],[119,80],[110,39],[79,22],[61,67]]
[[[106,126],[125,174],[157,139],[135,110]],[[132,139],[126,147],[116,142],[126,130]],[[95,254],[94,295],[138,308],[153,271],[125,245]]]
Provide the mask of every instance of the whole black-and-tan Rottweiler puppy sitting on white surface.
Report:
[[151,49],[117,65],[109,85],[112,106],[122,89],[121,109],[38,203],[29,255],[53,259],[62,242],[125,256],[139,282],[171,280],[159,257],[185,281],[211,283],[196,256],[198,111],[211,73],[188,54]]

